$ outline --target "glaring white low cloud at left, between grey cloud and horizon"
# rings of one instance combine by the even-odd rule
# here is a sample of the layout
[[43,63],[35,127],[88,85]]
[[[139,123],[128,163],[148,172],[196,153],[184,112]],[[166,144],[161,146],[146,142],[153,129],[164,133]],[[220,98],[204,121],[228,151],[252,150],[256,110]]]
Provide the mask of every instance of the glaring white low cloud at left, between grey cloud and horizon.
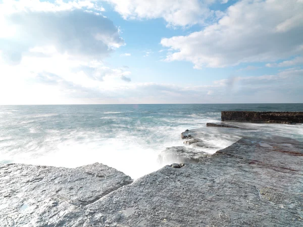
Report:
[[[12,66],[0,59],[1,104],[59,104],[91,102],[110,97],[129,84],[126,67],[111,69],[100,61],[72,60],[65,54],[24,56]],[[86,100],[89,98],[90,100]]]

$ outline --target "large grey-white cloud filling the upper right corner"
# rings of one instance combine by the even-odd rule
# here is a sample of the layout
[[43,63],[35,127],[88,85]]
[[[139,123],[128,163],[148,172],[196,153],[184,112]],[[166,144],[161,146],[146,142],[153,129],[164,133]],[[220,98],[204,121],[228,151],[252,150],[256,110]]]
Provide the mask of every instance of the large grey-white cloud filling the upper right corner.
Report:
[[303,2],[243,0],[217,23],[186,36],[163,38],[174,50],[166,61],[188,61],[194,68],[277,61],[302,54]]

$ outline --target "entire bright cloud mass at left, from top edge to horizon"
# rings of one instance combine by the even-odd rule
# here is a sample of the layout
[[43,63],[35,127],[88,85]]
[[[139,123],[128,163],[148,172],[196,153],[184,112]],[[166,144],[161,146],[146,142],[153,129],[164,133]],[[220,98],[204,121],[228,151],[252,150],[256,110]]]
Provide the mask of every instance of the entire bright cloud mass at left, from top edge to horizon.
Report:
[[103,10],[95,1],[1,3],[0,103],[85,103],[129,84],[127,67],[102,62],[124,45]]

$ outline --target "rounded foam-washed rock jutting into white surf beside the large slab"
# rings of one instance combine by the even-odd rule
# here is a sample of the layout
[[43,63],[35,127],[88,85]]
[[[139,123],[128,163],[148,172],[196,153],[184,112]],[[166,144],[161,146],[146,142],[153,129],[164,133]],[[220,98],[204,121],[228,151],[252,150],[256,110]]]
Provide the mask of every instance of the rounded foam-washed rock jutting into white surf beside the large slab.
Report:
[[191,162],[197,163],[200,159],[209,156],[210,154],[187,147],[168,147],[158,156],[160,164],[172,162]]

